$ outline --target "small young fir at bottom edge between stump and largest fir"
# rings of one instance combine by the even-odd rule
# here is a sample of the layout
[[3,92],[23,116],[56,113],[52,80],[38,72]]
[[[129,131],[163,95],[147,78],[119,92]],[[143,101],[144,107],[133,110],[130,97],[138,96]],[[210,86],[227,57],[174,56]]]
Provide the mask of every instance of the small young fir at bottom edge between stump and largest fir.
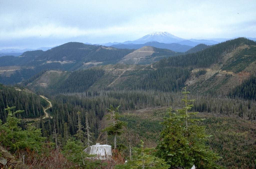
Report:
[[125,164],[116,165],[116,169],[140,169],[140,168],[161,168],[168,169],[170,165],[166,164],[163,159],[153,155],[154,148],[144,148],[144,142],[141,140],[140,148],[133,147],[132,160]]

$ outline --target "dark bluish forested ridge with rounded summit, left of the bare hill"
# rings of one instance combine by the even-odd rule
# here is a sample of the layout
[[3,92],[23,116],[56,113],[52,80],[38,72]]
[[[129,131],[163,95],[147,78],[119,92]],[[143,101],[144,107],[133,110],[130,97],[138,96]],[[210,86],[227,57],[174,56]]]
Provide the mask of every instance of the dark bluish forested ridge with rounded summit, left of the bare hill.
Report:
[[[115,63],[132,51],[134,50],[70,42],[47,51],[26,51],[19,57],[3,56],[0,57],[0,66],[21,66],[21,68],[12,71],[10,76],[0,74],[0,82],[14,85],[43,70],[74,71],[87,62]],[[94,65],[88,64],[86,68],[91,66]]]

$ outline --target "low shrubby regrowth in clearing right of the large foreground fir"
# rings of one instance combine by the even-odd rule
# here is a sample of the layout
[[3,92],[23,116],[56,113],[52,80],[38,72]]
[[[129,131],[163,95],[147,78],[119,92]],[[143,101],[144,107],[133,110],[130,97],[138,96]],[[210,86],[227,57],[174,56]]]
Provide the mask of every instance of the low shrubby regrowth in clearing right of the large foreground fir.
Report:
[[[199,117],[198,117],[199,118]],[[218,164],[227,168],[253,168],[256,159],[255,121],[225,116],[207,117],[199,123],[213,136],[206,141],[223,159]],[[253,166],[253,167],[251,167]]]

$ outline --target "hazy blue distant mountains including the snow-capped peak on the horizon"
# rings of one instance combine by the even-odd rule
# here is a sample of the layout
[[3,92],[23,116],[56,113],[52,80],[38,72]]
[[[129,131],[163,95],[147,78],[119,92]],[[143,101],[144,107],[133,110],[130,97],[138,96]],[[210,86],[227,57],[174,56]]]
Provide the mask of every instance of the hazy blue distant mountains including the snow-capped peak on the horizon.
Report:
[[[236,37],[237,38],[237,37]],[[234,39],[234,38],[230,38]],[[111,46],[120,49],[139,49],[143,46],[153,46],[161,49],[169,49],[175,52],[186,52],[187,50],[195,47],[198,44],[206,44],[206,45],[215,45],[226,40],[225,38],[213,38],[212,40],[207,39],[183,39],[172,35],[168,32],[152,32],[142,38],[133,41],[125,41],[123,43],[114,42],[114,43],[105,43],[105,44],[94,44],[94,45],[103,45],[103,46]],[[256,41],[256,38],[248,38],[250,40]],[[84,43],[88,45],[92,45],[90,43]],[[56,47],[56,46],[54,46]],[[25,51],[33,51],[33,50],[43,50],[46,51],[53,47],[40,47],[37,49],[2,49],[0,50],[0,57],[5,55],[13,55],[20,56]]]

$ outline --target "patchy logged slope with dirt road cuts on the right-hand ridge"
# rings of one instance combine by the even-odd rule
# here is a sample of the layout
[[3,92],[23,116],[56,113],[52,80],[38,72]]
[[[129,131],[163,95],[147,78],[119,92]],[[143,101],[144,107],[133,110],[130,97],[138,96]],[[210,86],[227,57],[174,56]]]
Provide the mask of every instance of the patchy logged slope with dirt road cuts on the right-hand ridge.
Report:
[[241,43],[231,52],[219,57],[219,62],[205,69],[204,75],[196,77],[200,70],[194,69],[186,84],[200,92],[229,94],[234,87],[240,86],[244,80],[256,74],[255,49],[256,44]]

